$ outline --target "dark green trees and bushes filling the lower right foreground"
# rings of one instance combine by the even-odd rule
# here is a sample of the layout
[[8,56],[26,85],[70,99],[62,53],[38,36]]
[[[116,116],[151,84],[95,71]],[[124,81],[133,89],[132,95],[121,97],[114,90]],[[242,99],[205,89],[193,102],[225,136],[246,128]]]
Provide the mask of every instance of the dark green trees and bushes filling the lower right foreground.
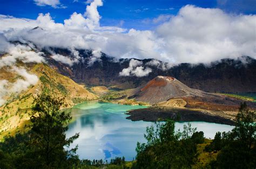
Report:
[[231,132],[217,132],[214,139],[204,139],[190,125],[184,132],[174,132],[174,122],[148,127],[146,144],[137,145],[133,168],[255,168],[256,115],[241,104]]

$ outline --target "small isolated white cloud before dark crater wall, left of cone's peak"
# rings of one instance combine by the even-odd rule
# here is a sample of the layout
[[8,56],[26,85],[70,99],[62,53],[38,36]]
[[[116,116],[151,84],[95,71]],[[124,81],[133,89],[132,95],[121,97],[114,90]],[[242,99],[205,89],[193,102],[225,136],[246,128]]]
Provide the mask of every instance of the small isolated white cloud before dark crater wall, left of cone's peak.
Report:
[[119,76],[137,76],[137,77],[143,77],[149,75],[152,70],[149,67],[144,68],[142,66],[142,62],[131,59],[129,63],[129,67],[122,70],[122,72],[119,72]]

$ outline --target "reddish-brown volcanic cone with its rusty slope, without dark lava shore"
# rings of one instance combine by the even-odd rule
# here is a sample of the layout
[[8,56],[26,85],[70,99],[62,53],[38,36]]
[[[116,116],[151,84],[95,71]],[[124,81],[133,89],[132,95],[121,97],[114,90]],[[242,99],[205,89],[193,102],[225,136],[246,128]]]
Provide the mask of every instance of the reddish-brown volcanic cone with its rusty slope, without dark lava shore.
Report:
[[[173,77],[164,76],[150,80],[134,96],[140,102],[152,105],[180,98],[185,100],[187,108],[214,111],[237,111],[240,103],[244,102],[237,98],[191,89]],[[256,109],[256,103],[247,102],[247,105],[251,109]]]

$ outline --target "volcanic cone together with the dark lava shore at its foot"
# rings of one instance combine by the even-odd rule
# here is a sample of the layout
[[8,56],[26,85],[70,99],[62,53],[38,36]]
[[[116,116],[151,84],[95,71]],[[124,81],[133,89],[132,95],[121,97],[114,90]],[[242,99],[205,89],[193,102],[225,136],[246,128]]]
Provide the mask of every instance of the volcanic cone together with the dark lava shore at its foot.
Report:
[[173,77],[157,76],[146,85],[138,87],[130,99],[149,103],[146,109],[129,111],[131,120],[156,121],[177,119],[181,121],[208,121],[234,125],[241,102],[252,110],[256,103],[223,94],[192,89]]

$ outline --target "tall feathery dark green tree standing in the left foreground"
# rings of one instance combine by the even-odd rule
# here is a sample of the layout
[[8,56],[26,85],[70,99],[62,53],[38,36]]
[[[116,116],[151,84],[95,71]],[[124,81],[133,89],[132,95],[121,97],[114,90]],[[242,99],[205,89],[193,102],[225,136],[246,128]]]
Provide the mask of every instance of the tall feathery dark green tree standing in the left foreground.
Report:
[[71,116],[60,111],[63,105],[63,99],[45,94],[35,99],[30,118],[30,146],[36,155],[32,159],[37,162],[37,168],[64,168],[69,160],[78,159],[75,154],[77,147],[69,151],[64,148],[69,147],[79,134],[66,138]]

